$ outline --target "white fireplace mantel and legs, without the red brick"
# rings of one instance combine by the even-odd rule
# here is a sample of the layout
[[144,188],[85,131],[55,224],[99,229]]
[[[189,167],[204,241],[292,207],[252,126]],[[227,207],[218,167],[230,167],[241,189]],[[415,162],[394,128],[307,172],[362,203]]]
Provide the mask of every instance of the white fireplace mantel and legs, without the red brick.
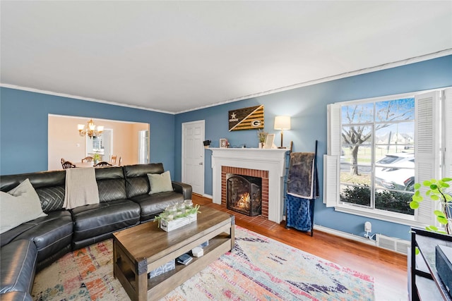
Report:
[[221,204],[221,166],[268,171],[268,219],[283,220],[285,154],[287,149],[209,148],[212,151],[212,199]]

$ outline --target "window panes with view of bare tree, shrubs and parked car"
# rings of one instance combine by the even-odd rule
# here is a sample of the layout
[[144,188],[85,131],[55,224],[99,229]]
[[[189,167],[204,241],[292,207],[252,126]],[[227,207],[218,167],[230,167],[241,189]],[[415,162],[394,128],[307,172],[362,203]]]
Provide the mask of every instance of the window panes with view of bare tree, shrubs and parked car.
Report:
[[413,215],[415,99],[341,111],[340,202]]

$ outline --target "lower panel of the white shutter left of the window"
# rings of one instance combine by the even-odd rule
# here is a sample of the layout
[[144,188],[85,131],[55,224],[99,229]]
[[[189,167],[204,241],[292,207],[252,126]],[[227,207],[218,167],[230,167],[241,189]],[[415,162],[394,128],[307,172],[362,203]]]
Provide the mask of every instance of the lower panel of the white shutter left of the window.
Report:
[[323,204],[335,207],[339,199],[340,156],[323,155]]

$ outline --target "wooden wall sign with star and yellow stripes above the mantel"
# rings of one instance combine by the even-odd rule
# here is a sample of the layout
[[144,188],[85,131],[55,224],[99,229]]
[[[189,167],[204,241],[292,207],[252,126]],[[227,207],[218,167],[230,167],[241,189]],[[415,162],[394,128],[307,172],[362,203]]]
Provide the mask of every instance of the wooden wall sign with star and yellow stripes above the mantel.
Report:
[[229,131],[257,130],[263,128],[263,104],[249,108],[229,111],[227,116]]

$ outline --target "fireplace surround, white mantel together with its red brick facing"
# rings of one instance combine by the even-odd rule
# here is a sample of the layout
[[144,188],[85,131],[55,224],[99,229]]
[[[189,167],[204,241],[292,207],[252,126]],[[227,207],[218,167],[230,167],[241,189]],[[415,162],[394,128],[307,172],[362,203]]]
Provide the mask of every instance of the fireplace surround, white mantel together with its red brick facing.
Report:
[[283,176],[286,149],[212,150],[213,202],[226,206],[227,174],[262,178],[262,216],[280,223],[283,220]]

